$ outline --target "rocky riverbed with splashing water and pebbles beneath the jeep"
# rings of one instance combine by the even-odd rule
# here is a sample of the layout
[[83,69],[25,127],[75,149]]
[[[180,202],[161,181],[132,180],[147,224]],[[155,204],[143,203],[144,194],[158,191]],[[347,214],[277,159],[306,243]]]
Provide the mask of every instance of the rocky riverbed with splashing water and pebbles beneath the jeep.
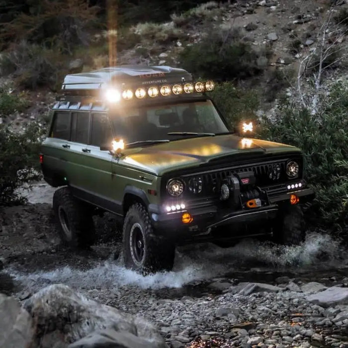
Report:
[[[49,201],[43,184],[35,190]],[[0,292],[21,303],[63,283],[145,317],[171,347],[348,347],[348,251],[340,241],[312,232],[291,248],[255,240],[186,246],[172,272],[144,277],[123,267],[111,215],[95,218],[99,244],[72,253],[59,244],[51,205],[30,194],[35,204],[0,212]]]

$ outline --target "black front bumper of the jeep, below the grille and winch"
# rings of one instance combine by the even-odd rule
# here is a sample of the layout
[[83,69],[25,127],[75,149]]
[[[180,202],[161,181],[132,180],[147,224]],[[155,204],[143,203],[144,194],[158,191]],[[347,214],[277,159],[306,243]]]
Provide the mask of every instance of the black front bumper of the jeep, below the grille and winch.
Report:
[[181,221],[183,211],[175,213],[161,212],[157,205],[149,206],[149,213],[156,233],[159,235],[180,235],[180,232],[194,234],[199,231],[206,231],[215,227],[233,224],[252,224],[255,222],[267,221],[276,218],[281,205],[290,204],[290,195],[296,194],[299,197],[299,204],[305,204],[313,200],[315,194],[311,188],[299,189],[296,191],[268,195],[269,204],[251,209],[240,209],[231,211],[230,208],[219,208],[216,204],[209,204],[199,207],[188,207],[186,209],[193,218],[189,224]]

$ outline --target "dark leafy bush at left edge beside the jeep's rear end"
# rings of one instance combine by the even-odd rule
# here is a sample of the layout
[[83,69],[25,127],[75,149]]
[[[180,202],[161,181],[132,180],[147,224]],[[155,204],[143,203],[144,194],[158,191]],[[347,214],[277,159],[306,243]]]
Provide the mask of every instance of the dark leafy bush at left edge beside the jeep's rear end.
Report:
[[23,203],[16,189],[40,178],[34,166],[43,132],[39,123],[31,123],[24,133],[0,125],[0,206]]

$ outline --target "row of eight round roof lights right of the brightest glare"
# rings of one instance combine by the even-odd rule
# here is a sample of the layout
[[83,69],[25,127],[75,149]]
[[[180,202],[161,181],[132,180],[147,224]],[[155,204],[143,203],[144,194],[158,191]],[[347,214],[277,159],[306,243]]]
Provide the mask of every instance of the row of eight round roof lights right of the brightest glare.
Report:
[[197,81],[195,83],[185,83],[185,84],[174,84],[174,85],[162,85],[162,86],[151,86],[151,87],[139,87],[135,90],[125,89],[122,91],[122,97],[125,100],[130,100],[135,96],[137,99],[143,99],[145,97],[156,98],[158,96],[168,96],[168,95],[179,95],[179,94],[189,94],[189,93],[202,93],[211,92],[214,90],[215,84],[213,81],[209,80],[206,82]]

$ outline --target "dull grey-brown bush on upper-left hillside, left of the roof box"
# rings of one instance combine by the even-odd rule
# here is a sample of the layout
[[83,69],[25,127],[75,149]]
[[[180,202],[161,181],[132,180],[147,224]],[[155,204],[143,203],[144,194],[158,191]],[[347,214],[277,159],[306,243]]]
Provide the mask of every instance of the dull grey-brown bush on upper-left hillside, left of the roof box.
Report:
[[54,90],[66,72],[64,59],[56,49],[21,41],[0,58],[0,74],[13,74],[16,85],[35,89],[50,85]]

